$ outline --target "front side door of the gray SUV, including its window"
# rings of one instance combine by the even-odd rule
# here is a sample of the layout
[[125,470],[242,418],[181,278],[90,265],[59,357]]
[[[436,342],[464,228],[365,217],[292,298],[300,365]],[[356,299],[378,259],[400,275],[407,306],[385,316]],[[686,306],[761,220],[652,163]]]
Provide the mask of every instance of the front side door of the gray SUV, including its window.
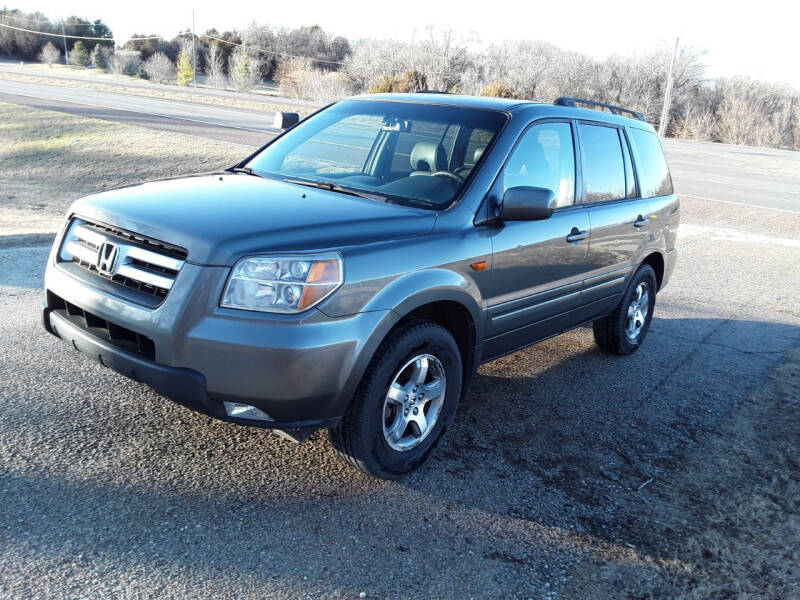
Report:
[[541,221],[502,223],[492,235],[486,358],[559,333],[572,324],[569,312],[581,306],[590,223],[586,208],[576,203],[576,146],[570,121],[537,121],[495,182],[496,198],[517,186],[553,190],[557,208]]

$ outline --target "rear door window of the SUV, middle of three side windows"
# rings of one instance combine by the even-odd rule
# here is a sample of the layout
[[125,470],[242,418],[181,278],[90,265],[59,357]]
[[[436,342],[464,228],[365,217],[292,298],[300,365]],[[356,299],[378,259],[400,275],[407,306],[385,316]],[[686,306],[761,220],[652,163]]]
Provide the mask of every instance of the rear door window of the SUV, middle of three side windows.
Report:
[[617,129],[596,125],[580,127],[586,201],[607,202],[624,198],[625,161]]

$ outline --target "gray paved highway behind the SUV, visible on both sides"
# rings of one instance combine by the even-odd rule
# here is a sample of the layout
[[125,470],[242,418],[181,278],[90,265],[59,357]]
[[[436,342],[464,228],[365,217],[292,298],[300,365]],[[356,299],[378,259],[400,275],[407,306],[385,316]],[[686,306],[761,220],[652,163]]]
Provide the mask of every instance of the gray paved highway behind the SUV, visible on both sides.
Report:
[[[230,93],[230,92],[226,92]],[[259,146],[272,114],[0,79],[0,101]],[[666,140],[685,196],[800,214],[800,152]]]

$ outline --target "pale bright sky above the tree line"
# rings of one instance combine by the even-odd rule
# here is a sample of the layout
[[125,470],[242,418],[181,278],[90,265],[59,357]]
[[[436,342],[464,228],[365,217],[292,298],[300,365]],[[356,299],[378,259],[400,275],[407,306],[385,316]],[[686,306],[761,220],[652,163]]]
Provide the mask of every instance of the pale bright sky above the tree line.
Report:
[[[538,6],[537,6],[538,4]],[[13,0],[9,8],[15,6]],[[205,31],[244,28],[252,20],[278,27],[319,24],[350,38],[395,37],[410,40],[426,26],[476,33],[480,43],[503,39],[543,39],[562,48],[602,58],[681,42],[707,51],[710,76],[749,75],[791,83],[800,88],[794,2],[549,2],[491,3],[400,0],[351,2],[233,2],[168,0],[136,3],[115,0],[25,0],[16,5],[40,10],[50,18],[76,14],[102,18],[121,39],[132,33],[171,38],[191,26]],[[68,8],[66,8],[68,7]],[[66,13],[66,14],[65,14]]]

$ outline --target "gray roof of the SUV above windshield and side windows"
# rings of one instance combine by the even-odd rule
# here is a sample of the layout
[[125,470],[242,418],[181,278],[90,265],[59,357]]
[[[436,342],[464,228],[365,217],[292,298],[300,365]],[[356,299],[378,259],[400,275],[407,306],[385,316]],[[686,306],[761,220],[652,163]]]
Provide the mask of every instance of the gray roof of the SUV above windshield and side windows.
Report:
[[[417,102],[420,104],[439,104],[445,106],[462,106],[467,108],[482,108],[488,110],[501,110],[504,112],[516,112],[519,110],[541,111],[543,116],[563,117],[570,119],[586,119],[591,121],[603,121],[606,123],[616,123],[627,125],[639,129],[652,129],[645,121],[639,121],[622,115],[614,115],[610,112],[594,110],[590,108],[579,108],[573,106],[559,106],[550,102],[533,102],[531,100],[518,100],[515,98],[492,98],[488,96],[467,96],[460,94],[436,94],[436,93],[417,93],[417,94],[364,94],[354,96],[348,100],[389,100],[394,102]],[[538,115],[537,115],[538,116]]]

